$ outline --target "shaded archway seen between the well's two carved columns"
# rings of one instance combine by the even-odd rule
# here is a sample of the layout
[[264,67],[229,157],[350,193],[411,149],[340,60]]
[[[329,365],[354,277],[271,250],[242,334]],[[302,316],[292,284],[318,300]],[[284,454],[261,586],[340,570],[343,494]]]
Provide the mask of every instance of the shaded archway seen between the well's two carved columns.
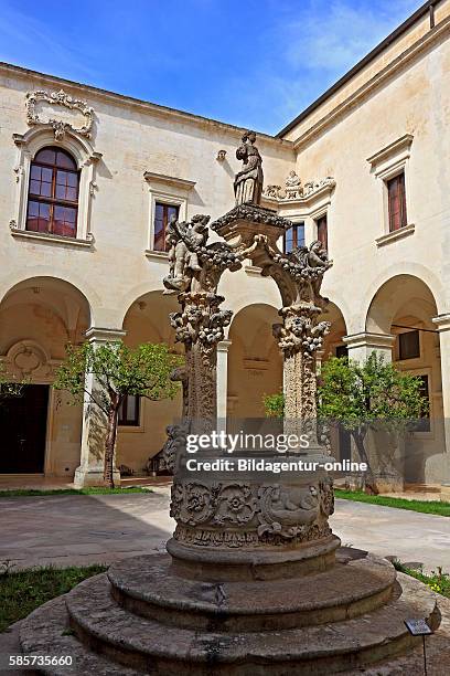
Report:
[[228,416],[264,418],[264,397],[282,388],[282,358],[272,336],[275,307],[249,305],[236,314],[228,338]]

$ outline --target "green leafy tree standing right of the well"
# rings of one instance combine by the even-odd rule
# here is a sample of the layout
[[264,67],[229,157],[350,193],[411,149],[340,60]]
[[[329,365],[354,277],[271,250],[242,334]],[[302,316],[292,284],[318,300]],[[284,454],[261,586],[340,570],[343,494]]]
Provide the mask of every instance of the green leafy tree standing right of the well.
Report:
[[[428,401],[420,388],[419,378],[399,371],[375,351],[362,363],[332,357],[322,365],[318,414],[350,432],[360,461],[369,467],[367,432],[383,425],[387,432],[398,433],[417,424],[428,412]],[[365,483],[377,492],[369,471]]]

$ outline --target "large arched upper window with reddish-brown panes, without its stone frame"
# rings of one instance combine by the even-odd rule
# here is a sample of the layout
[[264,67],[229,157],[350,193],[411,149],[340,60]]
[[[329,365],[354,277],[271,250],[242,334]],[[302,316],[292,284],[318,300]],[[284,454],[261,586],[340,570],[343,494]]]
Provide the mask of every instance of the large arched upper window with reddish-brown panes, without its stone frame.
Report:
[[26,230],[76,237],[79,171],[61,148],[36,152],[30,169]]

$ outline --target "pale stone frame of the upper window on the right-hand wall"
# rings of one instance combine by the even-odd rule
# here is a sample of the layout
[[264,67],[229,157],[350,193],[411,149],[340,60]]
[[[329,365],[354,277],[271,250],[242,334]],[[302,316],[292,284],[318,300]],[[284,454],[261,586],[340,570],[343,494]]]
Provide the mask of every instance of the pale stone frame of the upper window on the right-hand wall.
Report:
[[[395,242],[411,235],[415,231],[414,220],[411,220],[411,201],[409,189],[409,158],[413,140],[414,136],[411,134],[405,134],[397,140],[367,158],[367,162],[371,165],[371,172],[376,179],[379,179],[379,204],[382,210],[381,220],[383,233],[375,240],[378,247],[384,246],[389,242]],[[406,214],[408,222],[404,228],[390,232],[387,181],[395,178],[399,173],[405,173]]]

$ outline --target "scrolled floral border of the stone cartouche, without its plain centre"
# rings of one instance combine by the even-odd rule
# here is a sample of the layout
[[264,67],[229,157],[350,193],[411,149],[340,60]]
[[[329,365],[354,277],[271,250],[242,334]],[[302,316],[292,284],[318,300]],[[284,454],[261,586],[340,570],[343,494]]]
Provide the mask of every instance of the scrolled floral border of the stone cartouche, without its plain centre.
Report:
[[[82,126],[75,127],[65,119],[58,119],[57,117],[51,117],[46,120],[41,119],[36,107],[40,103],[50,104],[51,106],[62,106],[68,110],[75,110],[82,114],[85,122]],[[94,109],[87,105],[86,102],[79,98],[74,98],[69,94],[66,94],[64,89],[58,92],[45,92],[40,89],[38,92],[28,92],[26,94],[26,123],[30,127],[35,125],[50,125],[54,131],[55,139],[62,140],[67,130],[75,131],[81,136],[90,138],[92,128],[94,123]]]

